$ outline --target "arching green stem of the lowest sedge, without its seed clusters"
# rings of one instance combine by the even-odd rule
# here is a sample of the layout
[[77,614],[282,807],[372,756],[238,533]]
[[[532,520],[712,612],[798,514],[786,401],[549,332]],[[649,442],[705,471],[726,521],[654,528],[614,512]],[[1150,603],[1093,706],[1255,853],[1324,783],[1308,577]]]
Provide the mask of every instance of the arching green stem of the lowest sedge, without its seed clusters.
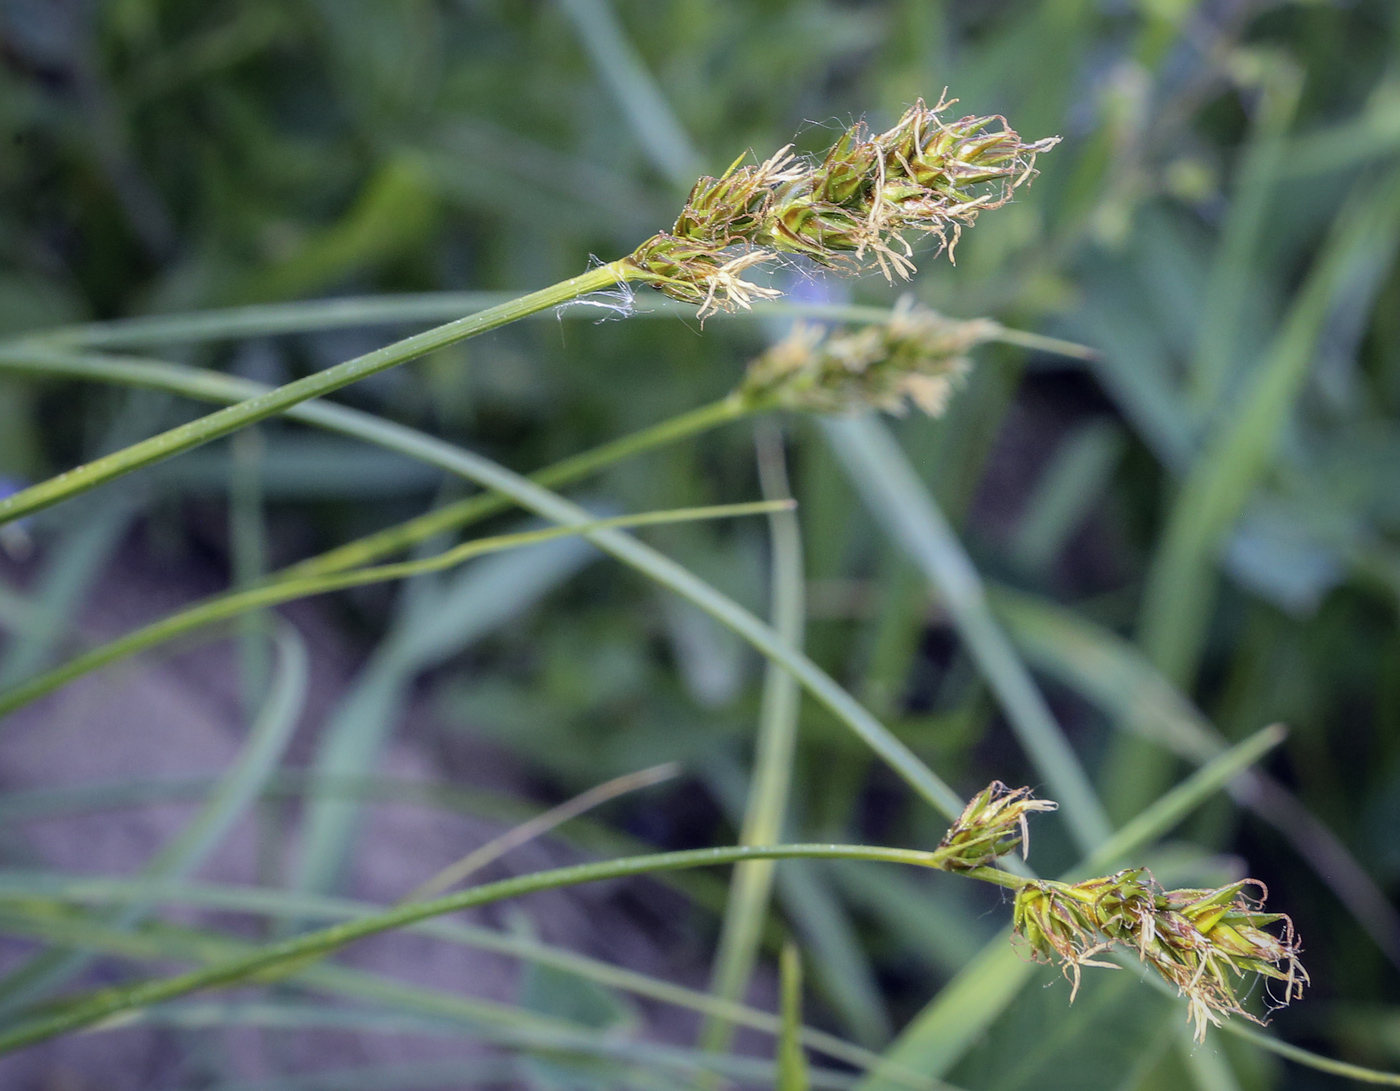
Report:
[[714,867],[739,863],[741,860],[784,859],[875,860],[914,867],[937,867],[939,860],[935,853],[864,845],[729,846],[633,856],[623,860],[605,860],[601,863],[554,868],[552,871],[538,871],[532,875],[519,875],[484,887],[473,887],[431,902],[413,902],[374,917],[333,924],[329,929],[321,929],[291,940],[269,944],[241,958],[232,958],[189,973],[143,982],[129,987],[102,990],[87,1000],[73,1003],[59,1011],[39,1015],[25,1024],[0,1032],[0,1053],[8,1053],[22,1046],[43,1042],[69,1031],[91,1027],[119,1013],[160,1004],[200,989],[235,985],[255,976],[267,975],[276,969],[290,971],[308,961],[319,959],[356,940],[402,929],[407,924],[445,913],[456,913],[462,909],[491,905],[493,902],[510,898],[521,898],[538,891],[552,891],[582,882],[647,875],[654,871]]

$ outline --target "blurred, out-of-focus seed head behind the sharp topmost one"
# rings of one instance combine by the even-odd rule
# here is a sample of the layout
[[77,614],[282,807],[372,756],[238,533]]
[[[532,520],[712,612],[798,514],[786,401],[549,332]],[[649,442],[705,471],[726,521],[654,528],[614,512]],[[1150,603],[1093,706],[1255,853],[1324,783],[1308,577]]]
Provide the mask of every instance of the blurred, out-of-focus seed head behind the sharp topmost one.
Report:
[[853,333],[795,325],[749,364],[739,394],[753,406],[815,413],[864,408],[903,413],[911,402],[941,416],[970,367],[967,352],[997,329],[987,319],[944,318],[906,296],[889,322]]

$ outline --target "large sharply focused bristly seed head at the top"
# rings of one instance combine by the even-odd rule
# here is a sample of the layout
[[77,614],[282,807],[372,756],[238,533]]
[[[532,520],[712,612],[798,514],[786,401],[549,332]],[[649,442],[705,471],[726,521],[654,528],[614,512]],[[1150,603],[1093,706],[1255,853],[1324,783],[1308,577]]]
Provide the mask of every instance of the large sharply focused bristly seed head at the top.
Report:
[[[783,255],[851,269],[872,259],[886,279],[907,279],[914,263],[904,232],[932,235],[952,256],[962,228],[1011,200],[1035,176],[1036,155],[1058,143],[1022,143],[1001,116],[942,120],[953,102],[920,99],[879,134],[853,125],[820,162],[791,144],[756,165],[741,165],[741,155],[696,182],[671,231],[624,260],[638,279],[696,304],[701,318],[777,294],[739,273]],[[736,255],[746,262],[736,265]]]

